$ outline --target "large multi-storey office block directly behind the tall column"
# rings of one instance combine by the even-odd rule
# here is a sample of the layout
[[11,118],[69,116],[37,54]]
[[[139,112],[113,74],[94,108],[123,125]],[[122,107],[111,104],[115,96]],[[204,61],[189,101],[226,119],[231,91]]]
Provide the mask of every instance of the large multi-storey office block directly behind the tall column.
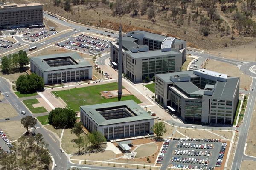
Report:
[[[119,40],[111,42],[110,61],[118,63]],[[133,82],[155,74],[180,71],[186,61],[186,41],[147,31],[131,31],[122,37],[122,71]]]

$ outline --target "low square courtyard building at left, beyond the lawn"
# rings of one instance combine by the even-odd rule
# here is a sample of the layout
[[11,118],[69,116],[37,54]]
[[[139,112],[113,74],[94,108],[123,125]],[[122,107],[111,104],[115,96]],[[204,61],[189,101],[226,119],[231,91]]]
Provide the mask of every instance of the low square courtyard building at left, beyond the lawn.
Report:
[[92,65],[77,53],[30,57],[30,71],[45,84],[92,79]]

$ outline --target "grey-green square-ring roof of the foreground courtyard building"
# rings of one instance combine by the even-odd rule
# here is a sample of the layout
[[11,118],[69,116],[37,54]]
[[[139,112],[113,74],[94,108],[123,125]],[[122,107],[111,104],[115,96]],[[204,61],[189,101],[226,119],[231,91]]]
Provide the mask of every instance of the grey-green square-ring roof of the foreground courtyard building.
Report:
[[[110,109],[111,107],[116,106],[127,106],[131,111],[133,111],[137,116],[119,118],[119,119],[109,119],[106,120],[96,109]],[[149,115],[143,108],[140,107],[136,102],[133,100],[125,100],[120,102],[110,102],[110,103],[102,103],[96,105],[86,105],[80,106],[80,110],[83,110],[90,116],[91,119],[96,122],[97,125],[112,125],[118,123],[125,123],[125,122],[134,122],[134,121],[142,121],[142,120],[153,120],[154,118]]]

